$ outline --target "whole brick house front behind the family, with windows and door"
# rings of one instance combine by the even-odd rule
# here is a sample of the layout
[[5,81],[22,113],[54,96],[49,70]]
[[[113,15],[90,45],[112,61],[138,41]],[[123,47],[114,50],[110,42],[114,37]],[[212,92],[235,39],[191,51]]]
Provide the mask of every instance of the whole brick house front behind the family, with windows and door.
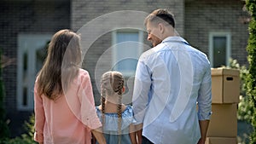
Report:
[[51,36],[64,28],[79,32],[83,68],[90,72],[96,104],[103,72],[123,72],[131,103],[137,59],[150,49],[143,19],[154,9],[169,9],[176,30],[207,54],[212,67],[228,65],[229,58],[247,65],[247,19],[240,0],[3,0],[0,7],[0,48],[15,60],[3,68],[5,107],[13,135],[33,111],[33,83],[44,62]]

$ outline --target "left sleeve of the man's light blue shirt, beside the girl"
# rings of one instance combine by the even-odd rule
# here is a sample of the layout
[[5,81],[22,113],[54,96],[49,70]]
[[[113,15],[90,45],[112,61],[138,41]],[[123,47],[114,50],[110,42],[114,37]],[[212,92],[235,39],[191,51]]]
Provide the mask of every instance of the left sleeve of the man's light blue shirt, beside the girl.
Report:
[[148,66],[143,60],[138,60],[137,71],[134,81],[134,91],[132,95],[132,107],[134,118],[137,124],[142,124],[148,106],[148,92],[151,85],[151,74]]

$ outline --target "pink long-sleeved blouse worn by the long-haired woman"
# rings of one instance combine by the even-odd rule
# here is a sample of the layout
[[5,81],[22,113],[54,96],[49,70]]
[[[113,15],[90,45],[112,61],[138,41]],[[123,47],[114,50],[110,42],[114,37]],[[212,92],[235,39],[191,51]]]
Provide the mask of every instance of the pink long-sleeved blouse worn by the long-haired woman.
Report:
[[89,144],[90,130],[102,126],[96,115],[89,73],[80,69],[67,92],[55,101],[38,95],[37,86],[36,80],[34,140],[44,144]]

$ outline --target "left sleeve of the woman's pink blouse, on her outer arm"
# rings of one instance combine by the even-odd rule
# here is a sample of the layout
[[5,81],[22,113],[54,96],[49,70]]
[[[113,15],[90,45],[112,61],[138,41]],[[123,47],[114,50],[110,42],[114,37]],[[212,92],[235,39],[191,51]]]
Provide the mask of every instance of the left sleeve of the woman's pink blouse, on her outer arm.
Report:
[[44,107],[41,95],[38,95],[38,81],[36,80],[34,86],[34,112],[35,112],[35,133],[34,140],[38,142],[44,141]]

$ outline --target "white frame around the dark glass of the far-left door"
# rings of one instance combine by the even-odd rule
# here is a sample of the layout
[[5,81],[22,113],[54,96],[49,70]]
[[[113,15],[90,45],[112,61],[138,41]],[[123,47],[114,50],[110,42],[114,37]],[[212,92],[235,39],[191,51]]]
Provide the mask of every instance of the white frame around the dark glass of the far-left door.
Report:
[[[51,34],[18,34],[18,61],[17,61],[17,109],[20,111],[30,111],[33,109],[33,86],[36,78],[36,51],[47,43]],[[37,43],[39,42],[39,43]],[[27,50],[27,76],[26,83],[23,81],[23,55]],[[26,106],[23,105],[24,91],[26,85]]]

